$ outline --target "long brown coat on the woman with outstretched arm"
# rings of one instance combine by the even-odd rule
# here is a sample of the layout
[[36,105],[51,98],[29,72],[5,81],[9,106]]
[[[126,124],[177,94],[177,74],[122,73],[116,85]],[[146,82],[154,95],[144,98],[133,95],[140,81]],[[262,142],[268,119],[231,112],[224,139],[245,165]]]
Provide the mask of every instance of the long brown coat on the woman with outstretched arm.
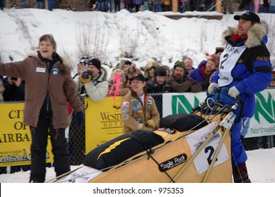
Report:
[[[59,72],[49,75],[46,63],[35,55],[15,63],[0,62],[0,75],[15,76],[25,80],[25,125],[37,127],[39,112],[48,91],[55,129],[68,127],[68,102],[76,112],[82,110],[82,102],[77,96],[75,82],[70,72],[60,69],[59,61],[53,65],[53,68]],[[65,68],[68,68],[68,65],[65,65]]]

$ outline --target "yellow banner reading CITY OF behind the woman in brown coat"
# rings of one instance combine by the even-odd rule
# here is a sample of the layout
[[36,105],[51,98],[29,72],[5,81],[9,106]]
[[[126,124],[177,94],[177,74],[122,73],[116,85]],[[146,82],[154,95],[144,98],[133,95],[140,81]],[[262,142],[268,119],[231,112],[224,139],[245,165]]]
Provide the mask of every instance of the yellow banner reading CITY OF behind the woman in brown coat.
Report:
[[[0,167],[30,165],[30,127],[23,124],[24,103],[0,103]],[[53,162],[48,140],[46,163]]]

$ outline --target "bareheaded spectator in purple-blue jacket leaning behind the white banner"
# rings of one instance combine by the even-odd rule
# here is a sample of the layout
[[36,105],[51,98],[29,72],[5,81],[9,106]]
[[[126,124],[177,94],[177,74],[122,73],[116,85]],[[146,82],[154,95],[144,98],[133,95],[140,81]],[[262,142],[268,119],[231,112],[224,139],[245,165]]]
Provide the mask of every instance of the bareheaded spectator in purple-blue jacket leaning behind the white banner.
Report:
[[217,70],[217,61],[215,58],[209,58],[207,61],[202,61],[198,68],[188,74],[196,82],[199,82],[203,87],[203,91],[207,90],[210,85],[210,77]]

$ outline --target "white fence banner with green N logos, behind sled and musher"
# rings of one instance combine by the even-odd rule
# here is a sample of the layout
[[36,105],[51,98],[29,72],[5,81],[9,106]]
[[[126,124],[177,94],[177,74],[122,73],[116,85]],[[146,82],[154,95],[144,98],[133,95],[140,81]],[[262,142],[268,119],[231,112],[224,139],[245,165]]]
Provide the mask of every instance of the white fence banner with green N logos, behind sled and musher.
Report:
[[[163,117],[177,113],[191,113],[206,98],[205,92],[167,93],[162,95]],[[256,112],[250,120],[245,137],[275,135],[275,89],[265,89],[256,94]]]

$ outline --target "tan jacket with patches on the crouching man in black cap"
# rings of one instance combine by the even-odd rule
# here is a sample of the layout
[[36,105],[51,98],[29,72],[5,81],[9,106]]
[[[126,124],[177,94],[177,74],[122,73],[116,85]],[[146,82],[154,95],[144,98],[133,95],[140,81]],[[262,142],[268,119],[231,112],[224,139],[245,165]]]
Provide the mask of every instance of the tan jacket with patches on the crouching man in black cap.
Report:
[[[155,125],[160,124],[160,114],[155,106],[155,100],[152,96],[145,94],[144,105],[141,100],[132,93],[126,94],[122,98],[122,121],[124,123],[124,134],[129,134],[143,127],[144,122],[153,120]],[[144,106],[144,107],[143,107]]]

